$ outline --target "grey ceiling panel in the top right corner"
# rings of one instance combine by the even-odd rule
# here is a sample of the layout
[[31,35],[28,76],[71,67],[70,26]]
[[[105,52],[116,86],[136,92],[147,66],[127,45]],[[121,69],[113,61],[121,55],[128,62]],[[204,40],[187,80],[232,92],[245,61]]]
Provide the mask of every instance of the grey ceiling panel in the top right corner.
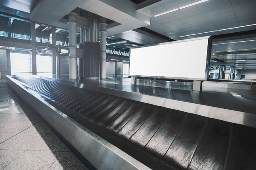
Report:
[[256,16],[256,0],[230,0],[237,19],[247,20]]

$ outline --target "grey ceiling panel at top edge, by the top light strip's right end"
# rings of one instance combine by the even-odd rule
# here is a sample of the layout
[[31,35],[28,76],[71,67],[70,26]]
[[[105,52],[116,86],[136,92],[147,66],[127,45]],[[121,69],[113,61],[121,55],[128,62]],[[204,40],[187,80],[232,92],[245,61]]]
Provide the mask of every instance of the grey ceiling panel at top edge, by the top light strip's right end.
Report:
[[209,20],[235,14],[229,0],[209,0],[197,7]]

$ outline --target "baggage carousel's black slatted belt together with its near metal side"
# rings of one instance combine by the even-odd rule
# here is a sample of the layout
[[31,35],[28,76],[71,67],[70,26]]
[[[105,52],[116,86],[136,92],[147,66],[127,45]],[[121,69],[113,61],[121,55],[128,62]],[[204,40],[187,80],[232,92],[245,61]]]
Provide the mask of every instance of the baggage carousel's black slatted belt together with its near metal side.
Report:
[[96,169],[256,169],[256,122],[239,125],[159,105],[159,97],[75,82],[7,79]]

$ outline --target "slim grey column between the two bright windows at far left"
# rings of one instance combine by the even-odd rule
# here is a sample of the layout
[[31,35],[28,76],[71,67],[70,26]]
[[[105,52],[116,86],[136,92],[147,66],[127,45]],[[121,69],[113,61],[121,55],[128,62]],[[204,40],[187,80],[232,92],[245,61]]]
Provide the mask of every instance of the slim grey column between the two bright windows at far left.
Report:
[[35,22],[31,21],[32,74],[36,74]]

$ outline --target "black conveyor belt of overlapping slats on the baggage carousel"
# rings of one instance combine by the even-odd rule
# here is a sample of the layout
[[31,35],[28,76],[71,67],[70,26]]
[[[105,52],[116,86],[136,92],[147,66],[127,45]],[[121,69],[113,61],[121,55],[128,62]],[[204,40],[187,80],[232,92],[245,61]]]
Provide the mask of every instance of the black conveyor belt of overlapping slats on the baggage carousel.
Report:
[[13,77],[151,169],[256,170],[256,129],[35,77]]

